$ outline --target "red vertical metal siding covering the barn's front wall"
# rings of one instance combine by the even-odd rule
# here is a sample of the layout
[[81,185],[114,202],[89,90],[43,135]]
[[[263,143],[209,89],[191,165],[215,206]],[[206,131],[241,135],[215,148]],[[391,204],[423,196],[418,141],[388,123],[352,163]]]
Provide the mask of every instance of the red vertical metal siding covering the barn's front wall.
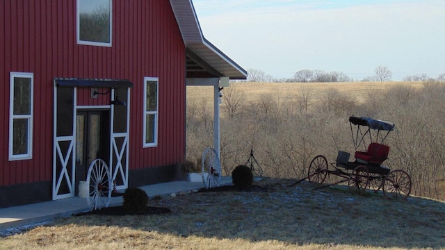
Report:
[[[8,161],[8,122],[0,123],[0,186],[51,181],[53,79],[129,79],[129,167],[184,160],[185,47],[169,1],[113,0],[112,47],[76,44],[76,1],[0,1],[0,119],[9,120],[9,74],[34,74],[33,158]],[[159,77],[159,146],[143,148],[143,78]],[[100,90],[102,91],[102,90]],[[106,91],[106,90],[104,90]],[[104,105],[78,90],[79,105]]]

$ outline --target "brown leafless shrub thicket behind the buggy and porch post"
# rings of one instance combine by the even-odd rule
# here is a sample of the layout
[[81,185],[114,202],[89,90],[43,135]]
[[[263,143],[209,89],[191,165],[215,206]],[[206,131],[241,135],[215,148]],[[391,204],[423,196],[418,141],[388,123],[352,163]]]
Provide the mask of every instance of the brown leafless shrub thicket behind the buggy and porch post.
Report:
[[[386,141],[391,150],[385,164],[410,174],[412,193],[435,199],[445,196],[439,188],[445,176],[443,84],[428,81],[419,90],[398,85],[384,92],[369,90],[362,97],[307,87],[299,93],[292,97],[272,93],[254,101],[245,101],[236,88],[225,93],[221,103],[223,174],[244,164],[252,148],[265,176],[304,178],[314,156],[323,154],[333,162],[339,150],[352,153],[348,117],[369,116],[396,124]],[[203,105],[188,103],[187,157],[191,160],[213,145],[213,113],[209,111],[213,105]]]

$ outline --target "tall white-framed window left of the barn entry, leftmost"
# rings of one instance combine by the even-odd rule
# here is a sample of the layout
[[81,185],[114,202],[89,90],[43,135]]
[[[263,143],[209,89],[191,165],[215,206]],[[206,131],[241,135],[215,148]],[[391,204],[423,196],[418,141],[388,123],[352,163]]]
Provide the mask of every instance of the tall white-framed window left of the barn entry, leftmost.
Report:
[[10,72],[9,160],[33,157],[34,74]]

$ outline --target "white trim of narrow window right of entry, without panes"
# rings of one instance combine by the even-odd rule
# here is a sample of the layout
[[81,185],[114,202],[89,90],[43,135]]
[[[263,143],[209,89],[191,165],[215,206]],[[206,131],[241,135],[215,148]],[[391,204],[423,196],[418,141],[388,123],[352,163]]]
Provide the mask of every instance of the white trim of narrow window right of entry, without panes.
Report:
[[[156,111],[147,111],[147,81],[156,82]],[[143,92],[144,108],[143,108],[143,147],[157,147],[158,146],[158,121],[159,121],[159,78],[157,77],[144,77],[144,92]],[[154,116],[154,142],[147,143],[147,115]]]

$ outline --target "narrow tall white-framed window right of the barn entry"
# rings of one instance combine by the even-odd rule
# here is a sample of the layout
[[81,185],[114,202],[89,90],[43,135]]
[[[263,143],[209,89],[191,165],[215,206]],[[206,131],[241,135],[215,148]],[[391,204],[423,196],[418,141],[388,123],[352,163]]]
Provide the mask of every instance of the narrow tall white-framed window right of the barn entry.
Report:
[[159,78],[144,77],[144,138],[143,147],[158,145]]

